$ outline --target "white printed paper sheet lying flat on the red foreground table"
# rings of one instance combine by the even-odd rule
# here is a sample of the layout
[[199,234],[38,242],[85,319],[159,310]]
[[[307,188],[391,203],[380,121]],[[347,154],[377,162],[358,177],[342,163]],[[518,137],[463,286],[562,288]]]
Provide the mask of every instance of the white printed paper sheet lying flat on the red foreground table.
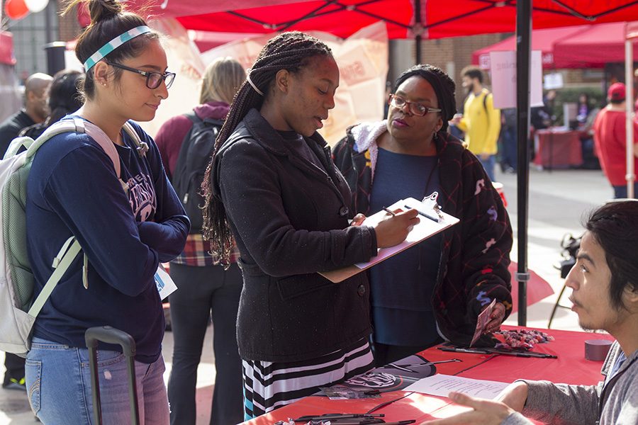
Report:
[[452,375],[433,375],[405,387],[403,391],[422,392],[447,397],[450,392],[461,392],[471,397],[495,399],[509,384],[505,382],[461,378]]

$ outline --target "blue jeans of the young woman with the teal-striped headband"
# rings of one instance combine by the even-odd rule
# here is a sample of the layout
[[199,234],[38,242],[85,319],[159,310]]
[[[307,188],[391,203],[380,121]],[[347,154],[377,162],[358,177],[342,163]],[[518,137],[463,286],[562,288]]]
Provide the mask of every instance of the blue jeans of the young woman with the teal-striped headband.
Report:
[[[98,351],[100,398],[104,424],[130,424],[128,371],[118,351]],[[166,425],[169,406],[164,386],[164,359],[135,362],[140,423]],[[93,424],[89,350],[33,338],[26,359],[26,386],[31,409],[43,424]]]

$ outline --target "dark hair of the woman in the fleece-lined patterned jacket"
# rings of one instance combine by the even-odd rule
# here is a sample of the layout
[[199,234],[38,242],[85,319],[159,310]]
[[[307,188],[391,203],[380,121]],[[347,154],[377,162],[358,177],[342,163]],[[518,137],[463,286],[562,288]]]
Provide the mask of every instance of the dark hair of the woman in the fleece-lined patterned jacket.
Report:
[[454,91],[457,89],[457,85],[442,69],[430,64],[418,64],[406,69],[398,76],[394,83],[393,91],[396,92],[398,86],[403,84],[403,81],[414,76],[425,79],[435,89],[439,108],[442,109],[443,126],[440,131],[447,131],[447,122],[452,120],[454,114],[457,113],[457,100],[454,98]]

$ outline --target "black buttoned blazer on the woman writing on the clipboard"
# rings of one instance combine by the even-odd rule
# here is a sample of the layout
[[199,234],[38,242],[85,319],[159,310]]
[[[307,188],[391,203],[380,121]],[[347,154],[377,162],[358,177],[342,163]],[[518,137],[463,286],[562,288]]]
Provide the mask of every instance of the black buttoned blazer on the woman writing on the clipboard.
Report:
[[376,255],[371,227],[348,227],[350,190],[315,133],[323,169],[290,149],[252,109],[220,148],[211,173],[241,258],[240,356],[305,361],[350,348],[371,331],[366,273],[332,283],[318,271]]

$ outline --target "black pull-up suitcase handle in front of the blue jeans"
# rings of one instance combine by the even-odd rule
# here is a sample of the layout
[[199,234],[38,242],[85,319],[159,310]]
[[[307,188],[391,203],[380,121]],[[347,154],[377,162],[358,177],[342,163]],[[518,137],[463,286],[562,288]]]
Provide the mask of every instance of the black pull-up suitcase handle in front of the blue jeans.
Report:
[[89,368],[91,368],[91,388],[93,390],[93,418],[96,425],[102,424],[102,407],[100,404],[100,384],[97,368],[98,342],[106,344],[118,344],[122,347],[126,361],[128,362],[128,395],[130,397],[130,422],[133,425],[140,424],[140,412],[138,407],[138,392],[135,381],[135,340],[124,331],[110,326],[92,327],[86,329],[84,334],[86,347],[89,348]]

